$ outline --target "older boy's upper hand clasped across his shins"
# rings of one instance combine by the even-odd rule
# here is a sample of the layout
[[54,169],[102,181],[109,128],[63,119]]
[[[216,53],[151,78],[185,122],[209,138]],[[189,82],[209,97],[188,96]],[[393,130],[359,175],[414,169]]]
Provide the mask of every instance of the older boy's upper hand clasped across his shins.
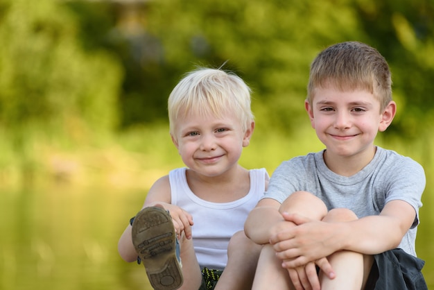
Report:
[[[320,261],[338,250],[333,248],[333,241],[330,241],[333,236],[331,223],[311,220],[300,214],[283,213],[282,216],[285,221],[295,226],[286,227],[273,234],[270,244],[273,245],[277,257],[284,261],[284,268],[297,268],[309,262]],[[324,262],[321,264],[324,273],[329,273]]]

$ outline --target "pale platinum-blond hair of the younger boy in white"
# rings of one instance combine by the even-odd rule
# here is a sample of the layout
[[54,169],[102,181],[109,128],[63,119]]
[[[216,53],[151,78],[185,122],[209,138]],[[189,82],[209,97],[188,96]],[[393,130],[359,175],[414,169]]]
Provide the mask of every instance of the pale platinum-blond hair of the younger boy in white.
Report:
[[[186,114],[216,117],[234,112],[245,131],[253,121],[250,87],[231,72],[200,67],[180,80],[168,97],[168,119],[173,135],[177,119]],[[180,116],[180,114],[183,114]]]

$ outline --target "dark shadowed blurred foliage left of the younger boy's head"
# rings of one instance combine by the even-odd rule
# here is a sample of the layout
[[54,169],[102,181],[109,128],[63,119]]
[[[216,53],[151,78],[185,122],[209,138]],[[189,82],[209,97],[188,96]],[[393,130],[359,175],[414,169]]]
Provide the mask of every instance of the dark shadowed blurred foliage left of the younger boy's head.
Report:
[[124,69],[119,92],[120,129],[166,121],[166,99],[180,71],[164,60],[160,38],[147,29],[147,1],[68,1],[83,47],[110,51]]

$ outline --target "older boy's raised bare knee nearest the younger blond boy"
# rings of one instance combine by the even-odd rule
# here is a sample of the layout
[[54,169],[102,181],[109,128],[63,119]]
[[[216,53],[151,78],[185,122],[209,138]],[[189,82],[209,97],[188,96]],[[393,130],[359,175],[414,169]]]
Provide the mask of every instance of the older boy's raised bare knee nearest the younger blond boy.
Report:
[[301,214],[311,219],[322,219],[327,214],[324,202],[307,191],[295,191],[281,204],[279,212]]

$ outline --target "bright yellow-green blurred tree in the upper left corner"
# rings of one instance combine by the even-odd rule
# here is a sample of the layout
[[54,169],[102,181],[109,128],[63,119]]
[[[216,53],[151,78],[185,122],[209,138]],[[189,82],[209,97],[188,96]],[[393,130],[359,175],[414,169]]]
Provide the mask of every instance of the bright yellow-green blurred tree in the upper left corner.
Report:
[[112,130],[121,73],[110,56],[81,49],[76,20],[58,1],[1,5],[0,126],[12,136],[44,128],[75,142],[83,142],[76,130]]

